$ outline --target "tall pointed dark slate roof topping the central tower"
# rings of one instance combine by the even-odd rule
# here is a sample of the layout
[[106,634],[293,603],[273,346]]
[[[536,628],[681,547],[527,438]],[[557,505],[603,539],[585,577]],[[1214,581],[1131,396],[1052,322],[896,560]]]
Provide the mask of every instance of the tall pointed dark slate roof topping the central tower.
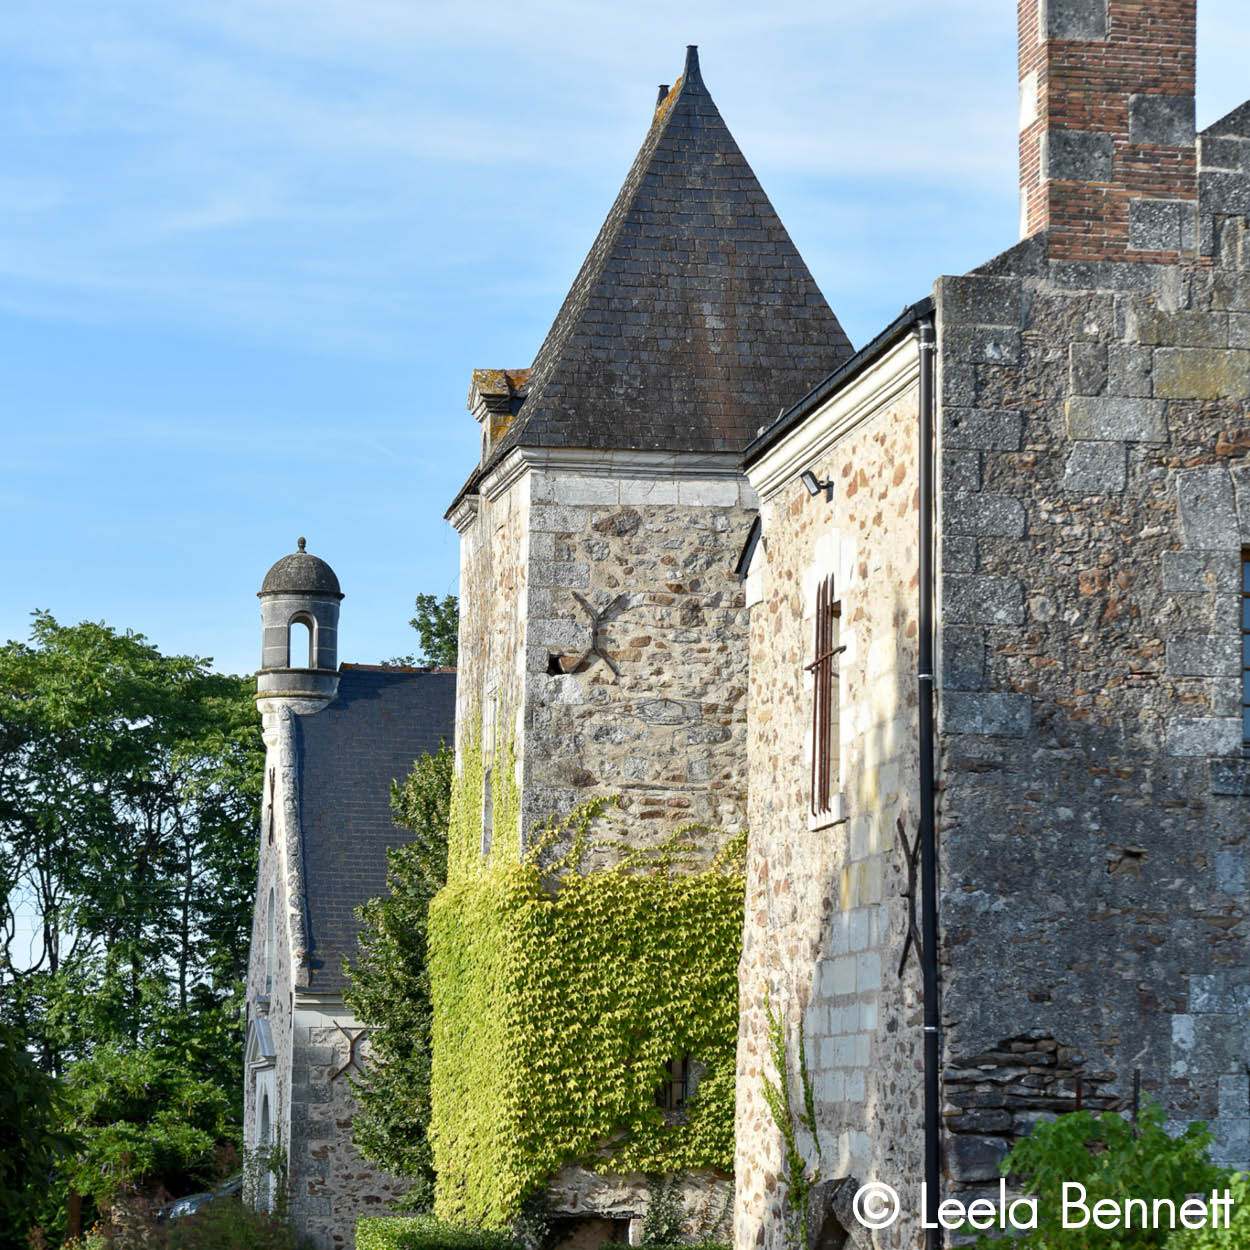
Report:
[[740,451],[850,355],[690,48],[490,459]]

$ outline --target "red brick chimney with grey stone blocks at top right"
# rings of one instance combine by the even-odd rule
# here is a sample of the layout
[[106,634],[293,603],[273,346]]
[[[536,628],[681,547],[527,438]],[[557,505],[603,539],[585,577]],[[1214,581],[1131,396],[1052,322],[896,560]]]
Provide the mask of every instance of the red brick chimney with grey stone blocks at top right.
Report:
[[1196,252],[1196,8],[1020,0],[1020,232],[1052,259]]

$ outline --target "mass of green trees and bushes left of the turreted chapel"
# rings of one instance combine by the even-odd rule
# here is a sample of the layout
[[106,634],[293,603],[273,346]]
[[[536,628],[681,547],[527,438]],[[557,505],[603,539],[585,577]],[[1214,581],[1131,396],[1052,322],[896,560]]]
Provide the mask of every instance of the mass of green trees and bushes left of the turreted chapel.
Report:
[[48,612],[0,646],[0,1024],[64,1078],[42,1104],[46,1134],[79,1139],[62,1196],[185,1190],[238,1138],[251,694],[208,660]]

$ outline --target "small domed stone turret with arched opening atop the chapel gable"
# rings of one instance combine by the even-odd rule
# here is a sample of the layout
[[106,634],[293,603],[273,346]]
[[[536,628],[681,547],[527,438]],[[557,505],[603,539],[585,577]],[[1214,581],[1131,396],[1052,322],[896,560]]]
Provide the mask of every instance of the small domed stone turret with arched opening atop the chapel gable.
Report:
[[304,550],[284,555],[258,592],[262,630],[256,702],[261,715],[288,706],[320,711],[339,691],[339,602],[334,569]]

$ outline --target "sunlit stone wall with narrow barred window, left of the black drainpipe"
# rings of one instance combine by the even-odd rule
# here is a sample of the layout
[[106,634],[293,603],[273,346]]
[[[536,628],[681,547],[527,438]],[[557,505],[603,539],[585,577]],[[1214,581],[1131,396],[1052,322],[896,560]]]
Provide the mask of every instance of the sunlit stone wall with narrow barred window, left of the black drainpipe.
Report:
[[[916,361],[906,339],[866,374],[876,391],[818,410],[789,468],[751,469],[762,540],[751,606],[750,851],[740,969],[735,1245],[788,1242],[780,1135],[764,1104],[766,1008],[786,1022],[798,1088],[798,1025],[812,1076],[822,1179],[881,1178],[918,1209],[921,1171],[920,972],[899,964],[905,854],[916,832]],[[808,446],[796,446],[806,440]],[[798,481],[834,481],[832,501]],[[769,479],[771,478],[771,484]],[[809,815],[816,582],[841,602],[840,806]],[[801,1105],[796,1102],[796,1111]],[[800,1132],[810,1168],[815,1144]],[[915,1244],[914,1215],[879,1236]]]

